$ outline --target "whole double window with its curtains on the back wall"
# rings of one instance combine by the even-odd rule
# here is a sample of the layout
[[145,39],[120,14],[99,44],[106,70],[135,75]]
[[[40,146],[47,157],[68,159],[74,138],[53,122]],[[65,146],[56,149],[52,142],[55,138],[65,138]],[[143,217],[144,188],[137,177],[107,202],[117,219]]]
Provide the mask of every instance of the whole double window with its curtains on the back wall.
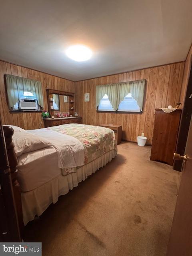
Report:
[[145,80],[96,86],[99,111],[142,112]]

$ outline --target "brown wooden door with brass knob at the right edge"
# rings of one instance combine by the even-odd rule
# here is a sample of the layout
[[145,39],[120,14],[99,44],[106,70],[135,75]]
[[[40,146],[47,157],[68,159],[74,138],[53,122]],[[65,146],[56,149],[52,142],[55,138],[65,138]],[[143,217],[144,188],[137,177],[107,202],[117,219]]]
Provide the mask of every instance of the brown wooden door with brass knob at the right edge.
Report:
[[192,255],[192,118],[167,256]]

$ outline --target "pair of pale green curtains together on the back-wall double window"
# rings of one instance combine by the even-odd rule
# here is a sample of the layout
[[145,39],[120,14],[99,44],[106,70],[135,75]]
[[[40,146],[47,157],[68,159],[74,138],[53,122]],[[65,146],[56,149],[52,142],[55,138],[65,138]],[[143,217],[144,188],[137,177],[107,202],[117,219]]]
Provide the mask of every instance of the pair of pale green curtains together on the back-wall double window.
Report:
[[122,82],[116,84],[105,84],[96,86],[96,108],[98,108],[100,101],[105,94],[108,95],[109,100],[114,110],[118,109],[119,104],[124,100],[128,93],[136,100],[140,109],[143,108],[143,98],[146,80],[138,80],[133,82]]

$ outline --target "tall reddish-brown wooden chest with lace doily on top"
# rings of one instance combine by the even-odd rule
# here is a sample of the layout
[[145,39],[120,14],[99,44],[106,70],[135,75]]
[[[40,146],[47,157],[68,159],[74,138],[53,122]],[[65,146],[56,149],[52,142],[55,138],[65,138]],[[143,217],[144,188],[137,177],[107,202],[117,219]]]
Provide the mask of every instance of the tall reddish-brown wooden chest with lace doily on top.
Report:
[[173,165],[173,155],[176,149],[181,109],[165,113],[155,109],[155,122],[150,160]]

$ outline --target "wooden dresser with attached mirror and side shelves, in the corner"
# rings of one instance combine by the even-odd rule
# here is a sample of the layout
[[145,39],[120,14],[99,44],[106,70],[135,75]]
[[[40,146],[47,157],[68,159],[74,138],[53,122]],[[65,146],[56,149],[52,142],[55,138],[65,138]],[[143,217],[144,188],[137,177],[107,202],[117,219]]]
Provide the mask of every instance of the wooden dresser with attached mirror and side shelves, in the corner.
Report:
[[45,127],[81,122],[82,118],[74,112],[74,93],[52,89],[46,89],[46,92],[50,117],[45,116]]

